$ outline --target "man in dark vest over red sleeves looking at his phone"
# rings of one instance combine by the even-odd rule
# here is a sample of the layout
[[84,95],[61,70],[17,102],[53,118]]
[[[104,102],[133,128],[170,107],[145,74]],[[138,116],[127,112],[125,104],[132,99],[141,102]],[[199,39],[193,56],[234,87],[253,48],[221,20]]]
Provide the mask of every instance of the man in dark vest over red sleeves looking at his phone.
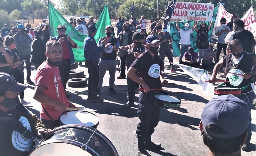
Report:
[[[77,47],[76,43],[68,35],[66,35],[66,31],[67,28],[64,25],[58,25],[58,35],[51,38],[51,40],[59,41],[63,47],[62,62],[58,67],[60,69],[60,77],[64,90],[66,90],[71,64],[75,62],[72,48]],[[70,95],[66,94],[66,96],[69,97]]]

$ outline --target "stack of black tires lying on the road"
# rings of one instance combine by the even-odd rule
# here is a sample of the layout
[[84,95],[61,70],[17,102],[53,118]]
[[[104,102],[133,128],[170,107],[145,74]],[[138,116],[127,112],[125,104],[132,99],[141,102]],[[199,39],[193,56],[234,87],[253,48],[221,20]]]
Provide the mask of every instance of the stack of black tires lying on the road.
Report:
[[71,70],[68,76],[68,87],[77,88],[87,85],[87,78],[85,78],[83,70],[77,70],[77,63],[71,65]]

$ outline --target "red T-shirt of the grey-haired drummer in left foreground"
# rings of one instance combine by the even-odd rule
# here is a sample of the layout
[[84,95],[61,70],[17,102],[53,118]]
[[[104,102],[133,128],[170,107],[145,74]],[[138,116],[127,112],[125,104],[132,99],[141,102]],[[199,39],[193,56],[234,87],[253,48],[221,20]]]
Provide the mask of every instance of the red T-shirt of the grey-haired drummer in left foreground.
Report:
[[[42,85],[45,86],[44,94],[50,99],[62,102],[69,107],[68,99],[65,94],[64,87],[60,78],[60,70],[58,67],[55,67],[44,61],[36,70],[36,86]],[[60,115],[63,112],[60,112],[55,109],[54,106],[41,103],[44,109],[50,114],[53,120],[58,120]],[[50,117],[44,112],[43,108],[40,111],[40,117],[46,120],[50,120]]]

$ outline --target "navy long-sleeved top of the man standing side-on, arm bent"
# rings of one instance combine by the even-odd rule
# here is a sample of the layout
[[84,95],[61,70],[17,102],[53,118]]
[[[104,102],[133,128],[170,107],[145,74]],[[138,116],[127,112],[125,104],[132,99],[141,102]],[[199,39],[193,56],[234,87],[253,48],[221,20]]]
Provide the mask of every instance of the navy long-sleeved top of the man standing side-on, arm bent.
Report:
[[97,45],[94,37],[88,34],[88,36],[84,39],[84,58],[90,60],[98,60],[100,59],[100,53],[104,50],[104,45]]

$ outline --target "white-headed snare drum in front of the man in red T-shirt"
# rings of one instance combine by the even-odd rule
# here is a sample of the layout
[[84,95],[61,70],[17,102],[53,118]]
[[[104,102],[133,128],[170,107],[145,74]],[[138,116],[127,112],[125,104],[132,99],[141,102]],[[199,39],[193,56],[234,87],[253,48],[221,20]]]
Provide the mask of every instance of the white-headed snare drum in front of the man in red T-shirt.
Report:
[[78,112],[76,110],[71,110],[64,112],[60,115],[60,125],[65,124],[83,124],[93,128],[97,128],[99,124],[99,118],[96,115],[82,111]]

